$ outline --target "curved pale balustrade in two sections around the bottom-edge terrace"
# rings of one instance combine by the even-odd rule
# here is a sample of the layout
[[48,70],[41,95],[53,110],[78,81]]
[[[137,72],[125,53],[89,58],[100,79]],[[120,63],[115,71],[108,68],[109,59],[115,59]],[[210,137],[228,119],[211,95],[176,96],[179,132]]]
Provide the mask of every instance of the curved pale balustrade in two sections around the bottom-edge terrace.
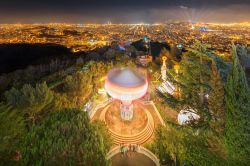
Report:
[[[116,154],[120,153],[120,146],[116,146],[114,147],[113,149],[111,149],[108,154],[107,154],[107,159],[111,159],[113,156],[115,156]],[[137,151],[137,153],[141,153],[141,154],[144,154],[145,156],[147,156],[148,158],[150,158],[156,166],[160,166],[160,160],[151,152],[149,151],[148,149],[142,147],[142,146],[139,146]]]

